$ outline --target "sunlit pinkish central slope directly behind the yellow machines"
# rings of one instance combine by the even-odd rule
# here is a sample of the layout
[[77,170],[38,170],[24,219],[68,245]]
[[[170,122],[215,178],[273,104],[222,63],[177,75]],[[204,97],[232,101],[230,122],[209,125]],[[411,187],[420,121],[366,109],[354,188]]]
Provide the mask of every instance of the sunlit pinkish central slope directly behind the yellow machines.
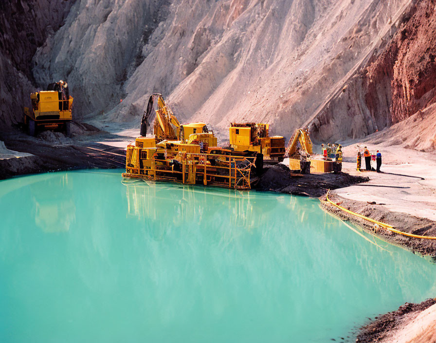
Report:
[[392,20],[407,4],[194,1],[192,18],[191,3],[179,1],[162,34],[152,36],[156,47],[145,47],[151,53],[115,113],[126,118],[144,108],[146,94],[162,90],[183,120],[205,120],[221,132],[230,121],[268,121],[290,136],[395,32]]

